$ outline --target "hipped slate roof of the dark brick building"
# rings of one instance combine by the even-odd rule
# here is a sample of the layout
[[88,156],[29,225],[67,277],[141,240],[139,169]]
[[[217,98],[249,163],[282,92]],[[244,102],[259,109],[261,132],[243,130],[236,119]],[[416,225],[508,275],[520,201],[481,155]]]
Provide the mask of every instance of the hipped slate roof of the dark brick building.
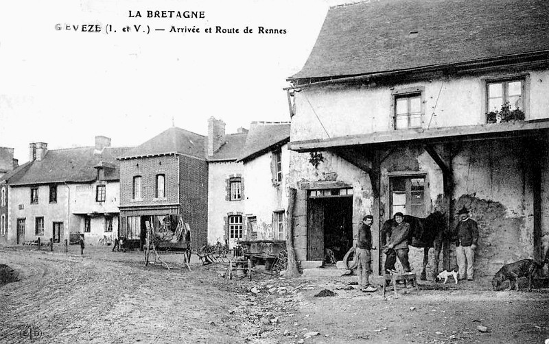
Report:
[[178,127],[171,127],[145,143],[131,149],[124,156],[121,156],[121,158],[139,158],[143,156],[180,153],[205,159],[207,153],[205,140],[207,140],[205,136]]

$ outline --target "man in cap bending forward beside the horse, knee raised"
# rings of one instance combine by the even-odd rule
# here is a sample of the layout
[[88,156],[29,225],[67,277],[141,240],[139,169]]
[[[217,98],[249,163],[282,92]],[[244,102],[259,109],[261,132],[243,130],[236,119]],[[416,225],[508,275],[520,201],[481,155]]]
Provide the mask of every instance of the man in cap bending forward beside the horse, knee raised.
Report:
[[395,214],[395,224],[391,226],[387,245],[383,253],[387,255],[385,259],[385,271],[395,271],[397,256],[399,257],[404,272],[410,272],[410,262],[408,261],[408,236],[410,234],[410,223],[404,222],[404,214],[397,212]]

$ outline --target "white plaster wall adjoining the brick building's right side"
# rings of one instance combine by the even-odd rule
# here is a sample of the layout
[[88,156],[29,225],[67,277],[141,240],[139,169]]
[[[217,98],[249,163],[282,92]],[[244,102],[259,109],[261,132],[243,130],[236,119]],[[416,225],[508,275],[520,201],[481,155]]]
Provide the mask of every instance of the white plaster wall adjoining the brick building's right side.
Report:
[[[208,243],[213,245],[218,239],[223,242],[224,219],[228,212],[244,213],[244,200],[226,201],[226,179],[230,175],[243,175],[242,162],[210,162],[208,165]],[[244,179],[244,197],[246,197]]]

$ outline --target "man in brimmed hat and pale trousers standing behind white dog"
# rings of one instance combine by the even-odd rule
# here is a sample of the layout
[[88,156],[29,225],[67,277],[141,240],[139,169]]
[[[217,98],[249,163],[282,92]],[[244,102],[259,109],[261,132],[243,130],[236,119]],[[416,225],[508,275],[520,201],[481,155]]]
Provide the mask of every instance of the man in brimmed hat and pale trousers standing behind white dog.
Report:
[[[456,260],[458,260],[459,279],[473,280],[473,265],[475,261],[475,249],[478,242],[478,225],[469,217],[469,210],[463,206],[458,211],[460,220],[454,230],[456,238]],[[467,275],[465,270],[467,269]]]

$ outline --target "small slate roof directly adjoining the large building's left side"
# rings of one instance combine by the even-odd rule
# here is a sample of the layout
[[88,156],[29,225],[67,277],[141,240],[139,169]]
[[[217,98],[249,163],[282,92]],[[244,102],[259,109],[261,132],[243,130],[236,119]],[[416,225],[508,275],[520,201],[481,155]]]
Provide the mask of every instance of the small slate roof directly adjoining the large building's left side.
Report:
[[286,143],[289,140],[290,123],[252,123],[239,161],[246,162],[266,153],[272,146]]

